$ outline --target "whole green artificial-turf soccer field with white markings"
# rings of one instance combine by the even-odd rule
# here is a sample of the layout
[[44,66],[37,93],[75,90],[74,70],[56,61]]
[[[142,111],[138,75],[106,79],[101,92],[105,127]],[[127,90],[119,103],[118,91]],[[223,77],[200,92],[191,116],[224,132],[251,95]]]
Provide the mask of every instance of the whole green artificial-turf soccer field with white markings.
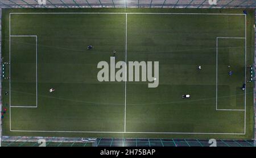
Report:
[[[247,12],[3,10],[3,135],[252,139],[253,82],[241,90],[254,63]],[[113,50],[116,63],[159,61],[159,85],[98,81]]]

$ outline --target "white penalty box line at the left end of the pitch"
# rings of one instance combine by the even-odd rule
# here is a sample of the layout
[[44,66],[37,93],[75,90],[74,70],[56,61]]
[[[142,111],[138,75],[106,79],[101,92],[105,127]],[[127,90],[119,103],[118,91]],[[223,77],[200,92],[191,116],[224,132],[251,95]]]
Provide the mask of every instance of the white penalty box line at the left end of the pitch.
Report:
[[[10,37],[35,37],[36,38],[36,106],[11,106],[10,104],[10,107],[37,108],[38,107],[38,36],[37,35],[10,35]],[[10,97],[11,97],[11,94],[10,94]]]

